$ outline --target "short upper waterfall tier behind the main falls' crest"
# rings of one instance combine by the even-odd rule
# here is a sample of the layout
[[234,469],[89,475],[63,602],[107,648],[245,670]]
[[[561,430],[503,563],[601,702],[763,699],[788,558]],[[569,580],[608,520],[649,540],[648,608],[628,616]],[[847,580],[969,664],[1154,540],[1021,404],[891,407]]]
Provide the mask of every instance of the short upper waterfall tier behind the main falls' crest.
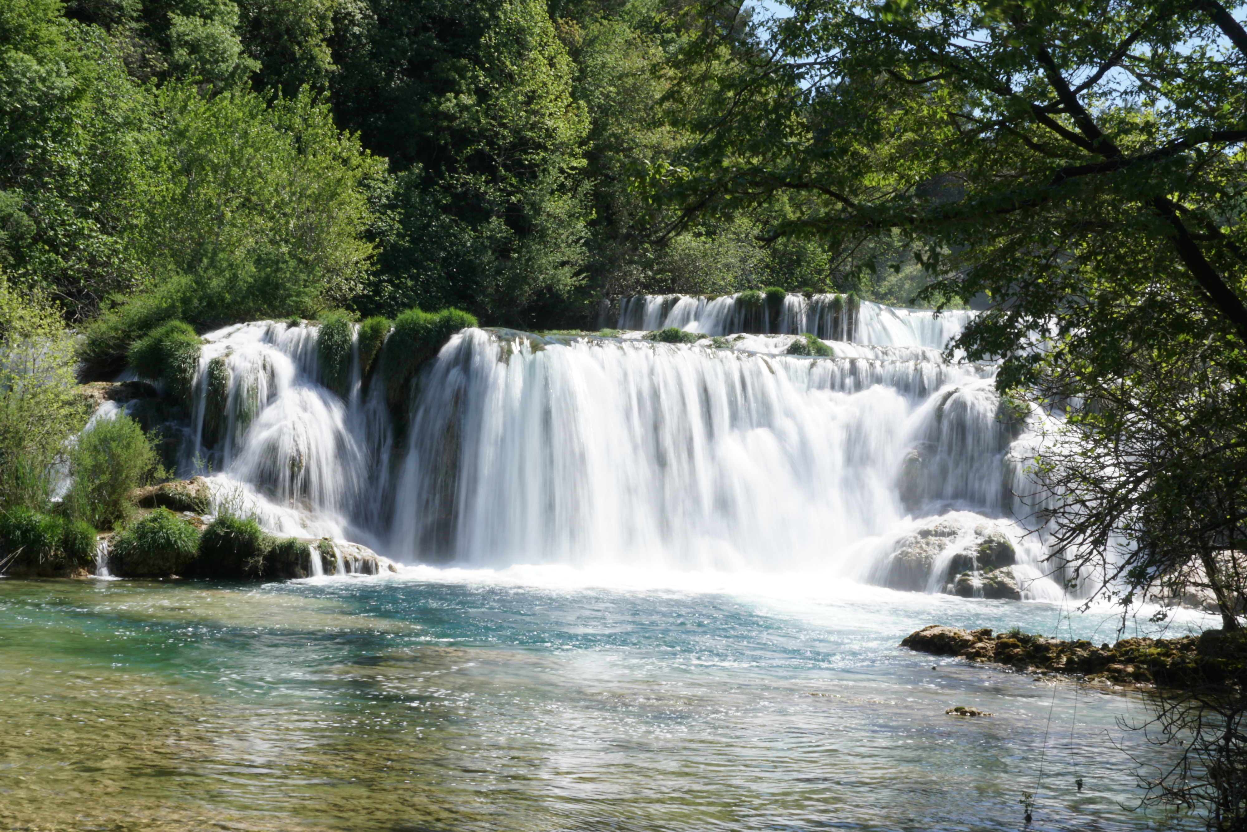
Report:
[[792,293],[778,306],[757,292],[721,297],[638,294],[604,301],[599,326],[646,331],[677,327],[707,336],[809,332],[826,341],[944,349],[974,314],[963,309],[938,314],[932,309],[900,309],[858,302],[847,294]]

